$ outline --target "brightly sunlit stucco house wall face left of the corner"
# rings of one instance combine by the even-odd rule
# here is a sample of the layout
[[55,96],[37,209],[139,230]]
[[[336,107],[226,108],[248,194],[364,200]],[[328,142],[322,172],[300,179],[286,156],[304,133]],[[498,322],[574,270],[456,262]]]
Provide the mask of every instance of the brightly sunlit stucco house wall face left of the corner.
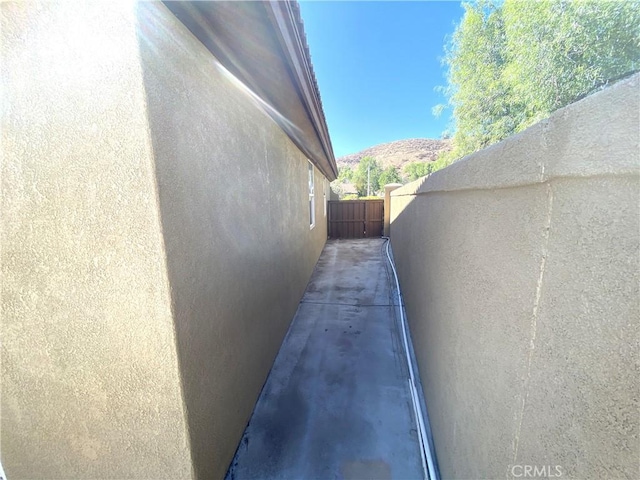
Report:
[[0,11],[2,465],[187,478],[136,12]]

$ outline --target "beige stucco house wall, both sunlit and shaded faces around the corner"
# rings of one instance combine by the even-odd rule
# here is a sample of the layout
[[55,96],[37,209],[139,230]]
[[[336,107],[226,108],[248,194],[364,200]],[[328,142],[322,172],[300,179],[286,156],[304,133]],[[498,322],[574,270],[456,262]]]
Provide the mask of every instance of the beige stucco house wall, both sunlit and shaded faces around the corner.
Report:
[[21,478],[224,475],[322,176],[159,3],[2,3],[2,418]]

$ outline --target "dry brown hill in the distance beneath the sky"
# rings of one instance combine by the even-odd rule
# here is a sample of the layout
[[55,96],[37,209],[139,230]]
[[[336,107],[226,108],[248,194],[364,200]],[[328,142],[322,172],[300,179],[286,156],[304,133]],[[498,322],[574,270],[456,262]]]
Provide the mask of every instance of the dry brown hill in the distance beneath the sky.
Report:
[[383,168],[390,165],[398,167],[402,172],[405,164],[411,162],[433,162],[441,151],[451,149],[451,140],[437,140],[433,138],[410,138],[395,142],[381,143],[365,148],[358,153],[352,153],[337,158],[338,167],[350,166],[355,169],[363,157],[373,157]]

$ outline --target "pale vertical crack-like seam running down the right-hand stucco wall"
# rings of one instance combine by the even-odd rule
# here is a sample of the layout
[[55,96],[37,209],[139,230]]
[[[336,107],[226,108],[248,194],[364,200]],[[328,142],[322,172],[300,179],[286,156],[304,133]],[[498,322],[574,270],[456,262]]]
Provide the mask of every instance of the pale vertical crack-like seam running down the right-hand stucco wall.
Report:
[[[542,166],[541,174],[544,175],[544,165]],[[531,363],[533,360],[533,353],[536,348],[536,337],[538,334],[538,309],[540,307],[540,298],[542,297],[542,285],[544,281],[544,273],[547,265],[547,255],[549,252],[549,236],[551,230],[551,216],[553,214],[553,188],[550,182],[547,182],[547,217],[544,226],[544,239],[542,242],[542,255],[540,258],[540,269],[538,273],[538,281],[536,283],[536,292],[533,301],[533,308],[531,312],[531,339],[529,341],[529,353],[527,356],[527,370],[523,385],[523,395],[520,403],[520,417],[518,419],[518,425],[516,428],[515,436],[513,439],[513,461],[512,465],[515,465],[518,458],[518,449],[520,447],[520,434],[522,432],[522,421],[524,418],[524,410],[526,408],[527,400],[529,399],[529,392],[531,389]],[[507,471],[507,478],[510,478],[510,470]]]

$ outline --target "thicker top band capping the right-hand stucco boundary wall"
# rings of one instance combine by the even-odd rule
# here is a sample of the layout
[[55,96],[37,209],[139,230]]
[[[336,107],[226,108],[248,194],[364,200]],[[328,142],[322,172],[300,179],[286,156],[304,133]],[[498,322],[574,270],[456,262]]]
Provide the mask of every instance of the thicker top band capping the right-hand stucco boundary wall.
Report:
[[483,190],[640,174],[640,74],[391,193]]

